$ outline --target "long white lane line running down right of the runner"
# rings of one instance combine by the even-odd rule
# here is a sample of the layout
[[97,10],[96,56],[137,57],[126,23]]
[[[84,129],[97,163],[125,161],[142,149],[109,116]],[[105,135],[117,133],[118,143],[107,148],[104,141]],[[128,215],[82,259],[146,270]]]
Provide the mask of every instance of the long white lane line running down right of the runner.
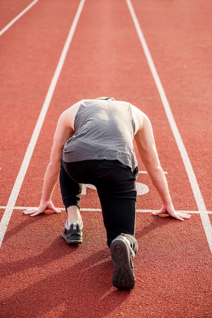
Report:
[[188,178],[189,178],[192,190],[193,190],[194,198],[196,200],[196,204],[197,204],[200,216],[201,216],[202,225],[203,225],[203,228],[204,228],[204,231],[205,231],[205,235],[206,235],[209,247],[210,247],[210,251],[212,253],[212,227],[211,227],[211,223],[210,223],[210,220],[209,220],[209,217],[208,217],[208,214],[207,214],[207,210],[206,210],[206,207],[205,207],[205,204],[204,204],[204,200],[202,198],[202,195],[201,195],[201,192],[200,192],[200,189],[199,189],[199,185],[197,183],[196,176],[194,174],[194,171],[193,171],[193,168],[192,168],[188,153],[186,151],[186,148],[184,146],[184,143],[183,143],[183,140],[181,138],[180,132],[178,130],[178,126],[176,125],[174,117],[172,115],[171,108],[169,106],[165,91],[163,89],[163,86],[162,86],[162,83],[160,81],[159,75],[158,75],[157,70],[155,68],[152,56],[150,54],[150,51],[149,51],[149,48],[147,46],[146,40],[145,40],[144,35],[142,33],[142,29],[140,28],[139,22],[137,20],[136,15],[135,15],[134,9],[133,9],[132,4],[131,4],[131,1],[130,0],[126,0],[126,2],[127,2],[127,5],[128,5],[128,8],[129,8],[132,20],[134,22],[135,29],[137,31],[137,35],[139,37],[140,43],[142,44],[144,53],[146,55],[146,58],[147,58],[147,61],[148,61],[152,76],[153,76],[155,84],[156,84],[156,87],[158,89],[158,92],[159,92],[159,95],[160,95],[164,110],[166,112],[166,116],[167,116],[169,124],[170,124],[170,128],[171,128],[173,136],[175,138],[175,142],[178,145],[179,151],[181,153],[181,157],[182,157],[182,160],[183,160],[184,166],[186,168],[186,172],[188,174]]

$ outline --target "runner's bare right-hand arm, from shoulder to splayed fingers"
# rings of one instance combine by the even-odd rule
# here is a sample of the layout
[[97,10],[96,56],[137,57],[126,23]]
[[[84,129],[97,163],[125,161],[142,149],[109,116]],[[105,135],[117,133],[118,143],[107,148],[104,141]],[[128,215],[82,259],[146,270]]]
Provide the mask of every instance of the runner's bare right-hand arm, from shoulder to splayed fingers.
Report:
[[162,213],[168,213],[172,217],[175,217],[179,220],[189,218],[190,215],[188,214],[175,212],[172,205],[167,180],[160,165],[152,125],[149,118],[139,110],[135,110],[135,113],[135,121],[137,126],[135,141],[138,152],[163,203],[161,210],[154,212],[153,214],[159,215]]

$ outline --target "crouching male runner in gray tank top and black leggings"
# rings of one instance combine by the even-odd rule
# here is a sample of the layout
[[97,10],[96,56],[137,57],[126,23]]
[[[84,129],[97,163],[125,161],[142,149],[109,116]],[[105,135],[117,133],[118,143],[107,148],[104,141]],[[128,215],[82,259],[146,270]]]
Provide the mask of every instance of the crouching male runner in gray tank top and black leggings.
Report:
[[130,103],[113,98],[82,100],[61,114],[44,176],[40,206],[24,211],[31,216],[45,210],[59,213],[51,201],[59,178],[67,212],[62,237],[69,245],[82,243],[82,184],[95,185],[114,263],[112,283],[124,290],[134,288],[133,260],[138,248],[134,237],[138,173],[134,138],[140,158],[162,200],[161,210],[153,214],[167,213],[179,220],[189,218],[190,215],[173,208],[150,120]]

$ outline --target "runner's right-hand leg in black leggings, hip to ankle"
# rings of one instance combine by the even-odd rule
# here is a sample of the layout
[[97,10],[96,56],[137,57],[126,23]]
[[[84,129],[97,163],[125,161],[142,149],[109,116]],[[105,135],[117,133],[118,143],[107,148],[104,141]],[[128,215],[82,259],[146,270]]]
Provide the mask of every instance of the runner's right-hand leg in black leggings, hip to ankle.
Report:
[[117,162],[102,163],[95,185],[108,245],[121,233],[134,235],[136,187],[130,168]]

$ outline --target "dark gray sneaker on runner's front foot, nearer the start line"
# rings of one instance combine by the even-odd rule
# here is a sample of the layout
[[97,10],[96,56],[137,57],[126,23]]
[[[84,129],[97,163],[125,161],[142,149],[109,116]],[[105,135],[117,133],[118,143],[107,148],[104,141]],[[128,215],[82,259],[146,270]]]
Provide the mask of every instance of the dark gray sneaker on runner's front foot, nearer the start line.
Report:
[[73,222],[70,224],[70,227],[67,227],[67,222],[65,224],[64,231],[62,233],[62,237],[69,245],[81,244],[83,242],[83,221],[81,224],[77,222]]

